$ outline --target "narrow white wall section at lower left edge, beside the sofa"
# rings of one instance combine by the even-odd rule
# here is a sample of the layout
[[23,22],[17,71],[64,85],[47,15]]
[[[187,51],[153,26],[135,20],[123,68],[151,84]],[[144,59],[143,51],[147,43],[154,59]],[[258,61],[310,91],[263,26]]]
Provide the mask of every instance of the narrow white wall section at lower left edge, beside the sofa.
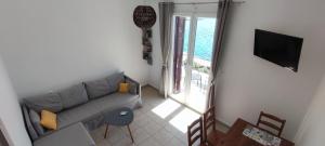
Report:
[[[14,146],[31,146],[17,96],[0,57],[0,119]],[[2,125],[1,125],[2,127]]]

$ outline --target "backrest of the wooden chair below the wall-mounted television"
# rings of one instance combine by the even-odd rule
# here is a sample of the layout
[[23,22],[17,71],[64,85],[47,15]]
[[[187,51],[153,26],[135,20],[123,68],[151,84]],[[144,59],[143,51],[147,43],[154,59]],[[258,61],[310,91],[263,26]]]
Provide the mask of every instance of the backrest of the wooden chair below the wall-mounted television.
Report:
[[[272,122],[276,122],[276,123],[272,123]],[[259,127],[260,129],[262,129],[266,132],[270,132],[272,134],[281,136],[285,123],[286,123],[286,120],[280,119],[273,115],[261,111],[260,116],[259,116],[259,120],[257,122],[257,127]],[[262,125],[266,127],[269,129],[272,129],[273,131],[276,131],[276,133],[264,129]]]

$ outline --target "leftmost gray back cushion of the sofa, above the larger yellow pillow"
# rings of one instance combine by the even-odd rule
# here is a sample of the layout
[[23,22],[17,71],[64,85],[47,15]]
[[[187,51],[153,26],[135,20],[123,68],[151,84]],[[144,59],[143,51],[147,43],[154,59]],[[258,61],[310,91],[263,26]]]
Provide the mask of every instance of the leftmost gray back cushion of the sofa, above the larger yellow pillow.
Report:
[[57,93],[48,93],[35,97],[24,98],[24,103],[30,109],[37,112],[46,109],[52,112],[58,112],[63,109],[61,97]]

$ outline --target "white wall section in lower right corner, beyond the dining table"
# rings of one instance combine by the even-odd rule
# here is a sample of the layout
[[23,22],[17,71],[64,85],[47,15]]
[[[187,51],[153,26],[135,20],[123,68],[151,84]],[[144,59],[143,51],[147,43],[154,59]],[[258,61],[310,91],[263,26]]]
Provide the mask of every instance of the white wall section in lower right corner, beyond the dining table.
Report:
[[297,146],[323,146],[325,131],[325,76],[296,136]]

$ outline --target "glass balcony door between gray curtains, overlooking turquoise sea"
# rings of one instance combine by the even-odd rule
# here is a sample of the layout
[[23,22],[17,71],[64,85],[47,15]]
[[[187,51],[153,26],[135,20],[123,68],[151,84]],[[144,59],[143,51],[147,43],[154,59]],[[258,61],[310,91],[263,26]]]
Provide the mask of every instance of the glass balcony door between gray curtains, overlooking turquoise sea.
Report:
[[207,105],[216,17],[180,14],[174,15],[173,22],[170,96],[203,112]]

